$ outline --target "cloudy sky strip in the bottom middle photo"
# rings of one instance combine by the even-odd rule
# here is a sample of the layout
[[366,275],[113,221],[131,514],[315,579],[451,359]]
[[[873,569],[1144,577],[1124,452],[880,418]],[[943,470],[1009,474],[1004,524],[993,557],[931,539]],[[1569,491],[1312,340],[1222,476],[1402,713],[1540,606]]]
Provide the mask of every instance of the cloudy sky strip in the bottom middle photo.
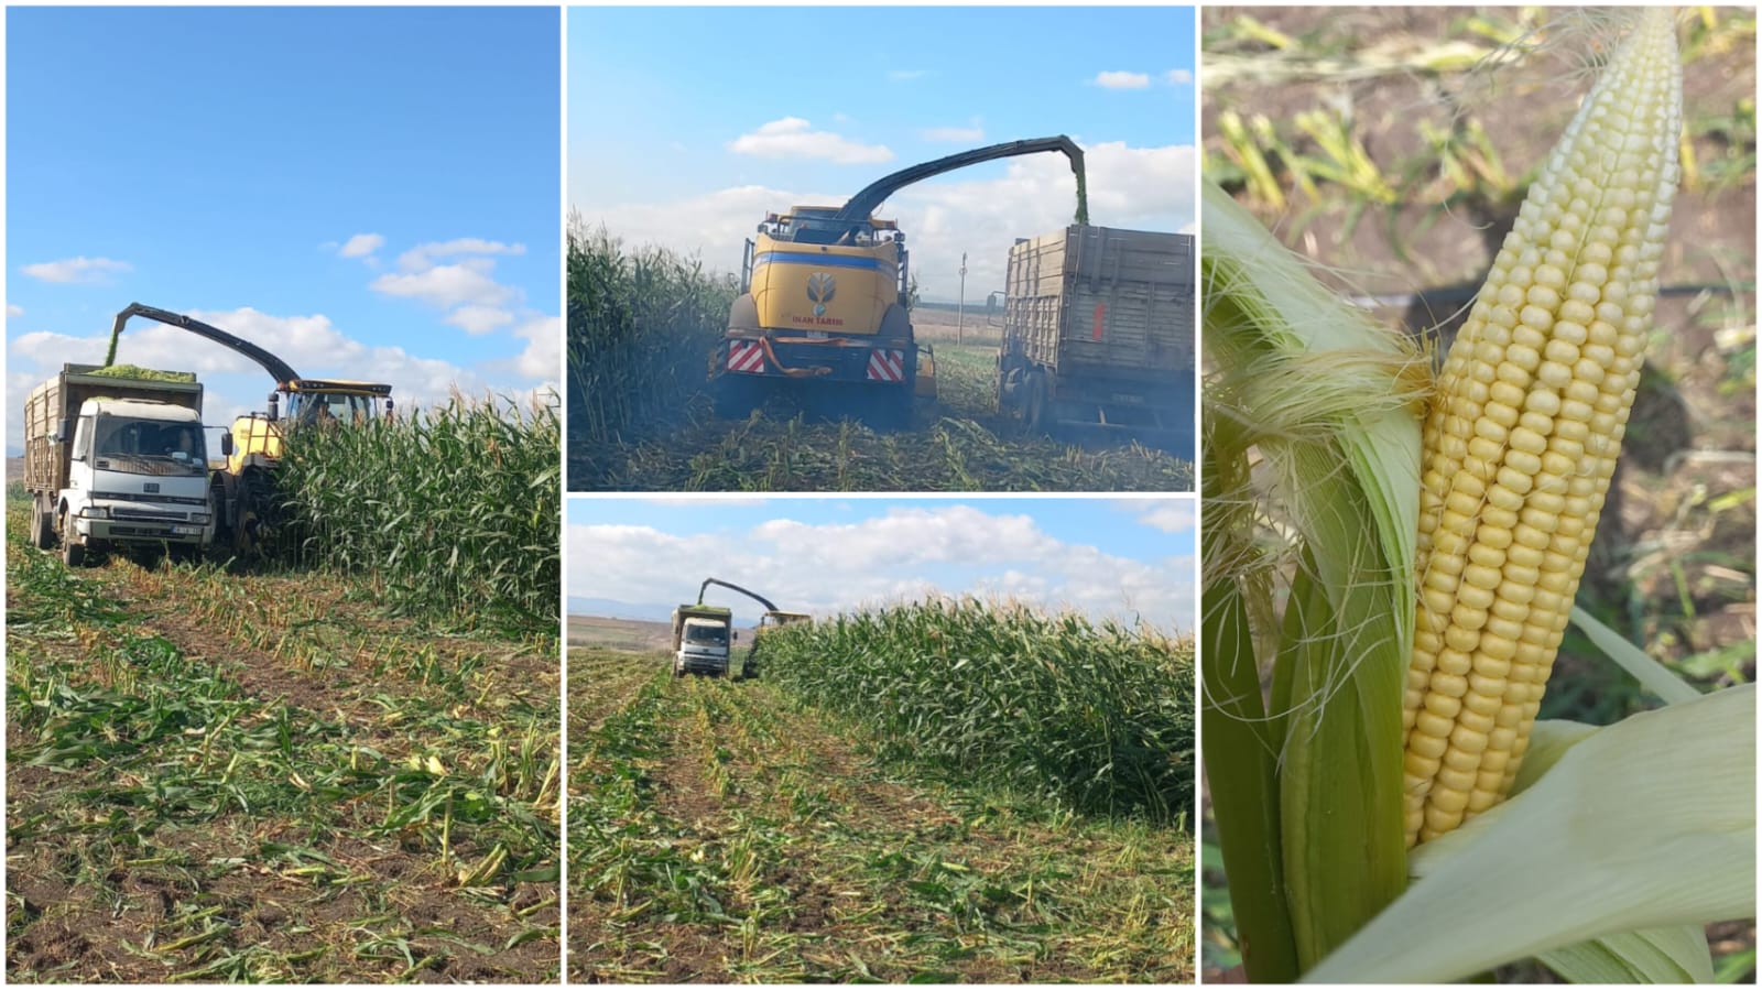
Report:
[[571,499],[567,594],[661,606],[714,576],[798,611],[978,592],[1191,631],[1193,516],[1191,499]]

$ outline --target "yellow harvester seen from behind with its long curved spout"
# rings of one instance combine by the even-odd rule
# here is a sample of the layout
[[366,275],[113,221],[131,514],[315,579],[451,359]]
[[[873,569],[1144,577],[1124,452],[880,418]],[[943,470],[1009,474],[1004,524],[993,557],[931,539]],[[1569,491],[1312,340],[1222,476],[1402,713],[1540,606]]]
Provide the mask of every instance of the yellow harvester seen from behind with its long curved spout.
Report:
[[844,206],[770,213],[742,257],[745,292],[710,356],[717,416],[738,419],[775,391],[812,396],[828,417],[909,426],[913,398],[936,395],[936,363],[911,326],[906,233],[874,217],[900,188],[980,162],[1062,151],[1077,174],[1077,222],[1087,224],[1084,153],[1070,137],[1010,141],[883,176]]

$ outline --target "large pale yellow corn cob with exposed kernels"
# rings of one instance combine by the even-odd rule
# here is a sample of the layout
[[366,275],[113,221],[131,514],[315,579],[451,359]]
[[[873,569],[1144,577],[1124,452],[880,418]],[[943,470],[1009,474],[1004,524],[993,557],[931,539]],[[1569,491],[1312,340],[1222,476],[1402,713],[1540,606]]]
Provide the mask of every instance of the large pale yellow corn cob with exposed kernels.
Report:
[[1633,403],[1677,185],[1674,19],[1644,11],[1529,188],[1425,421],[1406,840],[1510,789]]

